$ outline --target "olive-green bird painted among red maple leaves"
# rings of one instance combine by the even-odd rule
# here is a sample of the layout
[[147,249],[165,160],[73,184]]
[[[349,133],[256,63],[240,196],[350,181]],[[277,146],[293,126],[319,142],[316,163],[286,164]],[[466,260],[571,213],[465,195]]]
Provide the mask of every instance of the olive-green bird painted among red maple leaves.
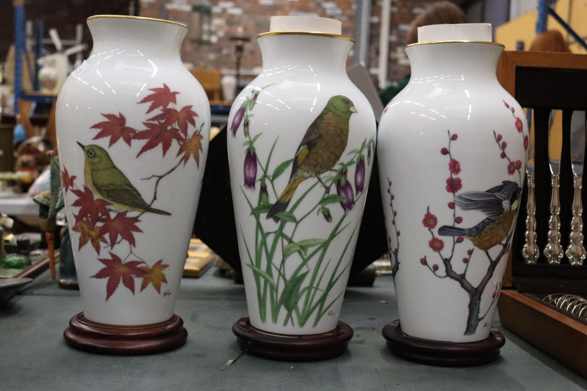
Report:
[[109,205],[109,208],[119,212],[137,210],[143,213],[171,215],[164,210],[151,208],[145,202],[129,179],[114,165],[106,149],[93,144],[83,145],[81,142],[77,144],[84,152],[83,178],[86,187],[94,193],[96,198],[110,202],[112,205]]

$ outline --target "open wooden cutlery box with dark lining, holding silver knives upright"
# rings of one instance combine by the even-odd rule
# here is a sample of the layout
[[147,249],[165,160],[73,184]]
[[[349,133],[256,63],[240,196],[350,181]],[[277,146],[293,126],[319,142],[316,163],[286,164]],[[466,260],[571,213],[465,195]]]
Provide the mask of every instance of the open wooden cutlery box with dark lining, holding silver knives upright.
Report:
[[[497,76],[501,85],[522,107],[534,110],[536,232],[540,250],[536,264],[525,263],[522,248],[525,243],[528,188],[524,186],[498,302],[501,324],[587,376],[587,322],[542,301],[546,295],[555,293],[587,298],[587,261],[582,266],[572,266],[565,257],[561,264],[548,264],[543,254],[551,198],[549,113],[551,109],[562,110],[559,196],[561,244],[566,249],[573,200],[571,115],[573,110],[587,110],[587,55],[506,51],[498,64]],[[587,183],[585,176],[583,173],[583,183]],[[586,189],[583,189],[582,201],[583,205],[587,205]],[[586,226],[583,226],[583,236],[587,237]]]

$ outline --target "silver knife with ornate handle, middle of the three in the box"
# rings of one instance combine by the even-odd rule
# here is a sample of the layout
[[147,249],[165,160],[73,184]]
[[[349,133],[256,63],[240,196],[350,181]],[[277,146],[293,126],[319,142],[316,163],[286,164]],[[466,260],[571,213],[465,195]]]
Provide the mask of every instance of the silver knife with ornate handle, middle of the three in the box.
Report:
[[551,169],[551,217],[548,220],[548,242],[544,249],[546,261],[550,264],[561,263],[565,255],[561,246],[561,205],[558,199],[559,174],[561,172],[562,154],[562,111],[551,110],[548,119],[548,164]]

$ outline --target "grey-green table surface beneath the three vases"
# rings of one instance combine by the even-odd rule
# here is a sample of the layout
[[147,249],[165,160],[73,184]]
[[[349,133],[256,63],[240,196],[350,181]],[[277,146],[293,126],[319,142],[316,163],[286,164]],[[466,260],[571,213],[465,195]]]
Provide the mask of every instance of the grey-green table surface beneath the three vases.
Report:
[[[382,302],[383,301],[383,302]],[[385,304],[387,302],[387,304]],[[0,390],[548,390],[587,389],[587,380],[503,329],[497,361],[473,368],[420,365],[387,351],[382,327],[398,318],[390,277],[346,291],[341,320],[355,329],[349,350],[324,362],[275,362],[238,348],[232,324],[247,315],[242,285],[215,268],[184,278],[176,314],[187,343],[147,356],[106,356],[66,345],[63,330],[82,310],[79,292],[62,290],[48,273],[0,307]],[[586,352],[587,354],[587,352]]]

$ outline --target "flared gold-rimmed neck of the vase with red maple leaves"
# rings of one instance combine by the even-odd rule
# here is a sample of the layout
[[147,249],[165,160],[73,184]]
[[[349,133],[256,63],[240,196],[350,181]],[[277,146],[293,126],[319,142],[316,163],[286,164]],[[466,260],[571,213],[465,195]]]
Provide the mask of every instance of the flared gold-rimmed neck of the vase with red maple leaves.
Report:
[[[94,18],[87,21],[92,33],[91,56],[116,55],[116,50],[137,56],[177,57],[187,28],[178,23],[140,18]],[[105,58],[105,57],[104,57]]]

